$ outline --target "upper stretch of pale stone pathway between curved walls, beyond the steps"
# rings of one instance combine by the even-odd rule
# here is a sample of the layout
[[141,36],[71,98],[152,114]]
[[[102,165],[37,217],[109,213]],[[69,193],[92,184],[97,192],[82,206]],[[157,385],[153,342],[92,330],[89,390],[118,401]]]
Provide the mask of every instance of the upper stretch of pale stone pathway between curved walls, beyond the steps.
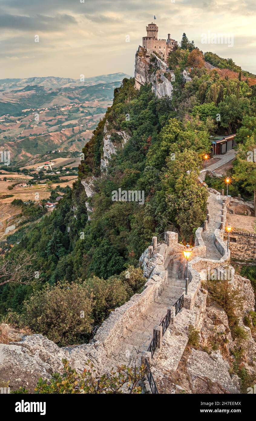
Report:
[[203,232],[202,238],[206,245],[206,258],[219,260],[222,256],[216,249],[214,244],[214,231],[219,228],[222,216],[222,200],[217,199],[214,193],[209,193],[208,210],[210,214],[210,222],[207,230]]

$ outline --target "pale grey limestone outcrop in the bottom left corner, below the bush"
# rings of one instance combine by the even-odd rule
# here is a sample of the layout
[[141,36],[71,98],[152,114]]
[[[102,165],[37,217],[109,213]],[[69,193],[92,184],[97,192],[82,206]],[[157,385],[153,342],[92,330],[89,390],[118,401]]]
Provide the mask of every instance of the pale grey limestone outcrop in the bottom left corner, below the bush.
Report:
[[97,370],[102,369],[104,355],[102,344],[59,348],[41,334],[22,335],[18,342],[0,344],[0,379],[9,380],[12,390],[25,386],[33,392],[40,377],[50,379],[54,372],[63,370],[63,359],[82,372],[88,359]]

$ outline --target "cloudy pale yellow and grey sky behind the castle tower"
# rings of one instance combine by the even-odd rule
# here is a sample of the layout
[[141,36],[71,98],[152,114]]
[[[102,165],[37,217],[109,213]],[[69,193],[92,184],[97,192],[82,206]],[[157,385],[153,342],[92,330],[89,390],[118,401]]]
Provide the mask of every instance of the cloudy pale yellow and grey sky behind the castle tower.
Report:
[[[203,51],[256,73],[255,0],[0,0],[0,79],[133,75],[154,15],[158,37],[180,41],[186,32]],[[208,31],[233,35],[234,46],[202,44]]]

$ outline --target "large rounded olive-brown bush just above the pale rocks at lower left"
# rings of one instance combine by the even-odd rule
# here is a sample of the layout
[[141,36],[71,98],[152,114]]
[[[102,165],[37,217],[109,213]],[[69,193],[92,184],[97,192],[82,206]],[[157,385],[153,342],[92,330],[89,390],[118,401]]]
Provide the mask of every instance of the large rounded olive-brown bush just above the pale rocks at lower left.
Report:
[[46,286],[24,302],[14,322],[26,325],[60,346],[74,344],[91,331],[92,298],[79,283]]

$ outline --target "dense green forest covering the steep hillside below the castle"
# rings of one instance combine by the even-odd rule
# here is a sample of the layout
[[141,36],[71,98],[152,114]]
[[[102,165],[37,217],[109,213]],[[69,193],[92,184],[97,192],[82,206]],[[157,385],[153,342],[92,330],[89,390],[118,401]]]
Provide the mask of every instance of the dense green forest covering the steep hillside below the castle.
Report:
[[[255,75],[230,59],[203,55],[184,36],[169,56],[175,69],[172,99],[156,98],[150,85],[137,91],[133,78],[124,79],[82,150],[73,189],[53,213],[23,230],[19,242],[5,253],[2,264],[8,259],[14,267],[17,256],[26,253],[29,270],[39,272],[33,283],[0,286],[0,312],[16,324],[58,344],[88,340],[111,310],[143,288],[138,259],[154,234],[169,229],[178,232],[181,242],[193,244],[206,213],[208,193],[198,175],[203,155],[211,152],[211,136],[237,133],[240,155],[229,170],[234,180],[230,194],[253,197],[248,172],[243,174],[241,168],[246,142],[251,148],[256,143]],[[207,68],[206,62],[216,68]],[[190,71],[187,83],[183,69]],[[111,139],[118,131],[130,137],[102,173],[106,121]],[[96,177],[90,199],[81,184],[89,176]],[[222,183],[209,180],[218,189]],[[119,188],[144,191],[145,204],[113,202],[111,192]],[[90,221],[85,202],[93,208]],[[8,244],[15,238],[17,233],[9,236]],[[84,318],[79,317],[81,308],[86,309]]]

